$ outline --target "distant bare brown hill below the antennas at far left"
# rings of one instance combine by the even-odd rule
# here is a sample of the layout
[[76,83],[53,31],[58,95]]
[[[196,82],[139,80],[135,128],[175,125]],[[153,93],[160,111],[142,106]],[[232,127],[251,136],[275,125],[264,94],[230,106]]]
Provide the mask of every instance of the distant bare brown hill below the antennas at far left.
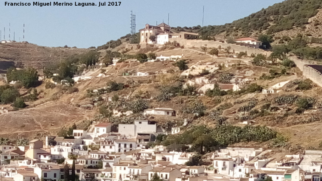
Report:
[[[58,62],[71,55],[85,53],[88,49],[44,47],[31,43],[0,44],[0,62],[20,62],[25,67],[42,69],[46,63]],[[8,67],[0,67],[0,70]]]

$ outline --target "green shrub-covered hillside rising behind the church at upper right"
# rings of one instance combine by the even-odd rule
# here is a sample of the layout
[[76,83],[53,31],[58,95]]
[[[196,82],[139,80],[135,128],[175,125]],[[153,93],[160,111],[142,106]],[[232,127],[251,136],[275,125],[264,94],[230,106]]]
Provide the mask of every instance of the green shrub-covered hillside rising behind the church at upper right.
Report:
[[297,33],[320,37],[321,0],[287,0],[262,9],[242,19],[219,26],[204,26],[199,34],[226,37],[257,37],[271,34],[294,37]]

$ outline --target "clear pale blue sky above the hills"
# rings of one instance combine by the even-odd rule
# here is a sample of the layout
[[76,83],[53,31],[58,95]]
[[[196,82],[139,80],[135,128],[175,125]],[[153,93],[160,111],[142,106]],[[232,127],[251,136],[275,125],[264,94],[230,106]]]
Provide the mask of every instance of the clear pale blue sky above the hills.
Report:
[[[4,6],[0,2],[0,30],[6,28],[6,39],[11,24],[11,39],[23,36],[25,24],[25,41],[41,46],[77,46],[88,48],[100,46],[109,40],[116,40],[130,33],[130,11],[136,14],[136,30],[145,24],[155,25],[156,21],[168,22],[170,26],[202,25],[204,7],[204,25],[220,25],[267,8],[282,0],[119,0],[120,6]],[[33,2],[19,0],[12,2]],[[50,2],[43,0],[40,2]],[[53,2],[53,1],[52,1]],[[103,0],[78,0],[76,2],[104,2]],[[108,1],[106,1],[108,2]]]

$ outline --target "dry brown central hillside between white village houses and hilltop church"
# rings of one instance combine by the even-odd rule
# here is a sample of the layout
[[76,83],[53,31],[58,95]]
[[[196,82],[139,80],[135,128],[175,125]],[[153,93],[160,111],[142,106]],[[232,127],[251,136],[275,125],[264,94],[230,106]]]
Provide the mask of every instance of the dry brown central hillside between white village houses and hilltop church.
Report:
[[[115,49],[116,50],[116,49]],[[120,50],[121,51],[121,50]],[[129,54],[137,52],[145,52],[146,49],[131,50]],[[321,127],[322,118],[320,105],[322,100],[317,96],[322,92],[322,89],[316,85],[310,90],[297,90],[297,84],[292,83],[301,80],[301,72],[297,68],[283,68],[281,65],[254,66],[248,62],[249,57],[231,58],[232,54],[228,55],[224,50],[220,51],[219,57],[212,58],[208,54],[201,52],[201,49],[181,49],[181,48],[157,48],[153,52],[157,55],[170,56],[176,54],[184,54],[184,59],[187,60],[187,65],[219,65],[227,64],[222,70],[209,73],[206,75],[195,75],[190,77],[180,77],[181,71],[173,65],[173,62],[128,62],[121,63],[117,66],[108,66],[88,70],[91,76],[98,75],[99,72],[105,72],[107,77],[94,77],[91,80],[77,83],[75,88],[78,91],[68,93],[68,88],[64,86],[56,86],[55,88],[45,88],[45,85],[37,87],[38,100],[27,102],[29,106],[22,110],[12,111],[0,115],[0,132],[1,137],[26,136],[33,138],[40,135],[56,135],[62,128],[69,128],[75,123],[79,129],[84,127],[84,121],[102,121],[118,123],[130,123],[134,119],[149,119],[158,122],[164,129],[169,129],[175,125],[181,125],[184,118],[192,119],[191,125],[206,124],[214,127],[218,124],[218,118],[227,119],[227,124],[244,126],[241,124],[245,120],[254,120],[256,125],[266,125],[270,128],[280,131],[284,136],[290,138],[291,145],[301,144],[303,147],[315,147],[321,142],[320,135],[309,134],[311,129],[319,129]],[[238,66],[236,66],[238,65]],[[282,69],[286,69],[286,73],[279,74]],[[105,70],[105,71],[103,71]],[[276,75],[271,78],[261,78],[263,73],[266,75],[272,74],[274,70]],[[148,76],[122,76],[124,72],[149,72]],[[92,72],[92,73],[91,73]],[[274,84],[283,81],[292,81],[288,84],[285,91],[277,94],[262,94],[261,92],[246,92],[246,93],[228,93],[222,96],[207,96],[182,93],[175,94],[170,97],[170,100],[158,100],[162,95],[160,90],[162,86],[169,87],[178,91],[180,84],[185,82],[194,82],[195,80],[208,80],[209,82],[220,83],[221,76],[231,74],[231,81],[240,79],[252,80],[251,83],[257,83],[263,88],[268,88]],[[123,83],[125,86],[122,90],[112,91],[96,95],[92,90],[100,89],[106,86],[109,82]],[[180,83],[181,82],[181,83]],[[195,84],[196,90],[200,89],[204,83]],[[250,85],[246,83],[245,86]],[[179,86],[179,87],[178,87]],[[181,91],[181,90],[180,90]],[[114,97],[115,101],[98,101],[92,110],[82,108],[81,105],[94,104],[93,100],[98,97]],[[283,102],[277,102],[278,97],[290,99],[292,101],[287,104],[286,108]],[[297,101],[306,98],[314,98],[315,102],[304,113],[296,113],[298,110]],[[148,108],[172,108],[176,110],[176,117],[167,116],[149,116],[142,115],[142,111],[133,113],[128,116],[115,117],[113,114],[126,112],[127,105],[137,104],[137,101],[144,99],[147,101]],[[280,99],[280,98],[279,98]],[[185,112],[187,108],[194,109],[202,104],[205,106],[205,115],[199,118],[194,118],[191,113]],[[242,112],[241,109],[246,109],[251,106],[251,111]],[[269,106],[267,107],[267,105]],[[9,105],[4,105],[10,107]],[[102,106],[106,106],[103,107]],[[140,107],[140,106],[139,106]],[[265,108],[264,108],[265,107]],[[138,108],[135,108],[138,109]],[[191,110],[191,111],[192,111]],[[109,116],[102,115],[104,114]],[[116,111],[116,112],[115,112]],[[213,117],[213,113],[219,114],[219,117]],[[215,115],[216,115],[215,114]],[[88,124],[87,122],[85,124]],[[9,130],[10,131],[7,131]]]

